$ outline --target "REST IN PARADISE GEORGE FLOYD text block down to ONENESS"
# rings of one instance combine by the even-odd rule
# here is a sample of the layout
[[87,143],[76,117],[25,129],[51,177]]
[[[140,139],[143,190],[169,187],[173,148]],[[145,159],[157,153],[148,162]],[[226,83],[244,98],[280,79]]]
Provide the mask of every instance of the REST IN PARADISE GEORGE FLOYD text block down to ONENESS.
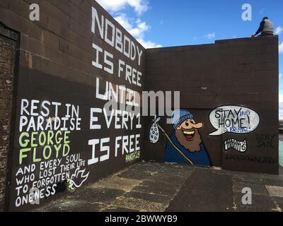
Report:
[[81,131],[79,105],[21,100],[14,177],[16,207],[53,196],[59,182],[73,178],[73,172],[86,166],[80,154],[71,155],[71,136],[76,131]]

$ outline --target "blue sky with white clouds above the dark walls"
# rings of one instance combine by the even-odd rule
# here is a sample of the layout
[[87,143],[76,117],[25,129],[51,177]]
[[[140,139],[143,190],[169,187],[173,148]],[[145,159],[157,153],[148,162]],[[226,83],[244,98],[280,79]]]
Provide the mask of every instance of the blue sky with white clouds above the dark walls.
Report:
[[[97,0],[144,47],[214,43],[250,37],[263,16],[279,35],[279,74],[283,74],[282,0]],[[242,6],[252,6],[252,20],[242,20]],[[282,78],[281,78],[282,77]],[[279,76],[279,118],[283,119],[283,76]]]

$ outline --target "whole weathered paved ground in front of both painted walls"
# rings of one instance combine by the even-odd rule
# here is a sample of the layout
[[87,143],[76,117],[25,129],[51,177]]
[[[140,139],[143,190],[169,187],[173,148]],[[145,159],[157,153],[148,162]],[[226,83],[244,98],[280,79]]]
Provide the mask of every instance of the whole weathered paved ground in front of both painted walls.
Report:
[[[253,205],[241,202],[244,187]],[[37,211],[283,211],[280,175],[141,162]],[[281,197],[280,197],[281,196]]]

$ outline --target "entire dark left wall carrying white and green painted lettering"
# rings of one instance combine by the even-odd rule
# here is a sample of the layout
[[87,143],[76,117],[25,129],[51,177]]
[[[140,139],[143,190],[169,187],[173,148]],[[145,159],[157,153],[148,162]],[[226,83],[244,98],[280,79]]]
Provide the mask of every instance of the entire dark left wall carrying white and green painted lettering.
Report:
[[[40,21],[29,20],[29,3],[39,4]],[[28,203],[34,199],[33,187],[42,205],[140,160],[143,121],[137,114],[131,120],[114,110],[105,117],[108,100],[97,94],[105,94],[107,87],[115,93],[124,87],[129,90],[120,92],[118,102],[125,103],[124,95],[129,100],[132,91],[141,93],[144,47],[96,1],[13,0],[0,6],[0,21],[21,32],[8,209],[37,207]],[[130,49],[120,52],[119,41],[125,39],[123,47],[131,44]],[[129,76],[126,65],[132,69]]]

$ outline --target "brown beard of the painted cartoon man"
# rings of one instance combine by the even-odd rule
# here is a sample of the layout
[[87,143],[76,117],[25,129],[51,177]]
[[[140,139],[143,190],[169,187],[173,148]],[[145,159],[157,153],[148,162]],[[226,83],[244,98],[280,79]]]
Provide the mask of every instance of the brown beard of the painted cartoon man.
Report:
[[176,130],[175,136],[180,142],[181,145],[191,153],[195,153],[200,151],[200,143],[202,143],[202,138],[200,137],[200,133],[198,129],[195,129],[195,136],[191,140],[188,140],[182,130]]

